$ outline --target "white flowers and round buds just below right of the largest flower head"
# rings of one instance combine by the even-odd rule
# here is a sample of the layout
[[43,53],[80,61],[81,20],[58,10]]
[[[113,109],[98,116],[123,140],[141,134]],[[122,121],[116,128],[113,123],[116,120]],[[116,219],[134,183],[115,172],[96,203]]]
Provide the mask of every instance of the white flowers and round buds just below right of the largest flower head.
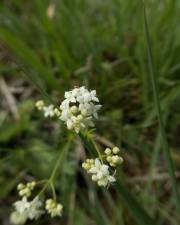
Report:
[[[93,181],[97,182],[99,186],[107,186],[110,183],[116,181],[114,175],[110,174],[110,167],[116,167],[118,164],[123,162],[123,158],[118,156],[120,149],[118,147],[114,147],[113,149],[106,148],[105,149],[105,157],[106,161],[109,165],[104,164],[98,158],[96,159],[86,159],[83,162],[82,167],[90,174],[92,174],[91,178]],[[110,166],[110,167],[109,167]]]

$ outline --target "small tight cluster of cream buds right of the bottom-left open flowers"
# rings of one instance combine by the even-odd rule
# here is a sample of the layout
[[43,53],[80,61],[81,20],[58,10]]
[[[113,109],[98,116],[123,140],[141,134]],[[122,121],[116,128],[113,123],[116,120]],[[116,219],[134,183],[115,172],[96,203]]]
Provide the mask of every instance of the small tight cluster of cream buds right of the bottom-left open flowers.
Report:
[[60,203],[57,203],[54,199],[46,200],[46,210],[51,215],[51,217],[61,216],[63,206]]

